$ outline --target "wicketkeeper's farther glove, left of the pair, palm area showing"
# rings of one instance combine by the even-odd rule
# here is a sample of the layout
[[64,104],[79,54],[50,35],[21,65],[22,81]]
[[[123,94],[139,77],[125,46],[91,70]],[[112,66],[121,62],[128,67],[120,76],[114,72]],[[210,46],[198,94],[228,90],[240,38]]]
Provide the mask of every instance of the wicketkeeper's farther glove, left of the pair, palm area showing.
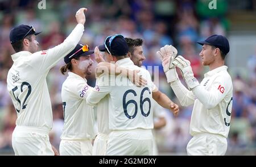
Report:
[[160,48],[160,51],[156,52],[156,54],[162,60],[162,65],[165,73],[169,69],[174,68],[172,62],[177,55],[177,49],[175,47],[173,47],[172,45],[165,45],[164,47]]

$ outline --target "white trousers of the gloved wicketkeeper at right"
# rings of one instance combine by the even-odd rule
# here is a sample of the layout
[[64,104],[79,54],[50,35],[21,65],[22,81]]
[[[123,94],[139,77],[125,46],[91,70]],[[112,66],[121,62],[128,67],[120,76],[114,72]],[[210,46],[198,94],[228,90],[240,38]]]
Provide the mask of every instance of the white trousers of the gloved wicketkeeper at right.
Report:
[[187,145],[189,156],[224,156],[228,142],[226,137],[212,133],[198,133]]

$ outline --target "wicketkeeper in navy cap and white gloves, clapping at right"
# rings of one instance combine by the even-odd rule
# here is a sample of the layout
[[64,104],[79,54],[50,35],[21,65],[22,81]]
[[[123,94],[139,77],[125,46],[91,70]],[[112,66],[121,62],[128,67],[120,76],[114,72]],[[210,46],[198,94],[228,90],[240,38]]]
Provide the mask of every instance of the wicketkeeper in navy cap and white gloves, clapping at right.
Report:
[[[210,69],[201,83],[194,77],[188,60],[182,56],[174,59],[177,53],[174,47],[166,45],[158,54],[167,81],[181,105],[194,104],[189,130],[193,137],[187,145],[188,155],[225,155],[233,99],[232,79],[224,62],[229,42],[222,35],[212,35],[198,43],[203,45],[202,64]],[[177,77],[175,66],[181,70],[189,90]]]

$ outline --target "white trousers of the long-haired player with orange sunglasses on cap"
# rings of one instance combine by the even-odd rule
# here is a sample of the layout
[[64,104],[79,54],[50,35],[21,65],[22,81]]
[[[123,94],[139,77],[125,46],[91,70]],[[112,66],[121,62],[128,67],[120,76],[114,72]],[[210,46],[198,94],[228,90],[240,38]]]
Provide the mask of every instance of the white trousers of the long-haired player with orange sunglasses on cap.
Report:
[[61,156],[91,156],[92,140],[61,140]]

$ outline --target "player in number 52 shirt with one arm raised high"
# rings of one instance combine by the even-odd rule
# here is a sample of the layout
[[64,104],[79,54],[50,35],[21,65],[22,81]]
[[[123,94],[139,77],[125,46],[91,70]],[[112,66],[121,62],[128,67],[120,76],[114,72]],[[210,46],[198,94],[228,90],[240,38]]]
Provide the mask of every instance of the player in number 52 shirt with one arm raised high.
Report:
[[38,52],[32,26],[20,25],[10,32],[15,54],[7,76],[7,90],[17,111],[13,132],[15,155],[54,155],[49,142],[52,108],[46,83],[49,70],[76,47],[84,31],[85,8],[76,12],[77,26],[65,41],[47,51]]

